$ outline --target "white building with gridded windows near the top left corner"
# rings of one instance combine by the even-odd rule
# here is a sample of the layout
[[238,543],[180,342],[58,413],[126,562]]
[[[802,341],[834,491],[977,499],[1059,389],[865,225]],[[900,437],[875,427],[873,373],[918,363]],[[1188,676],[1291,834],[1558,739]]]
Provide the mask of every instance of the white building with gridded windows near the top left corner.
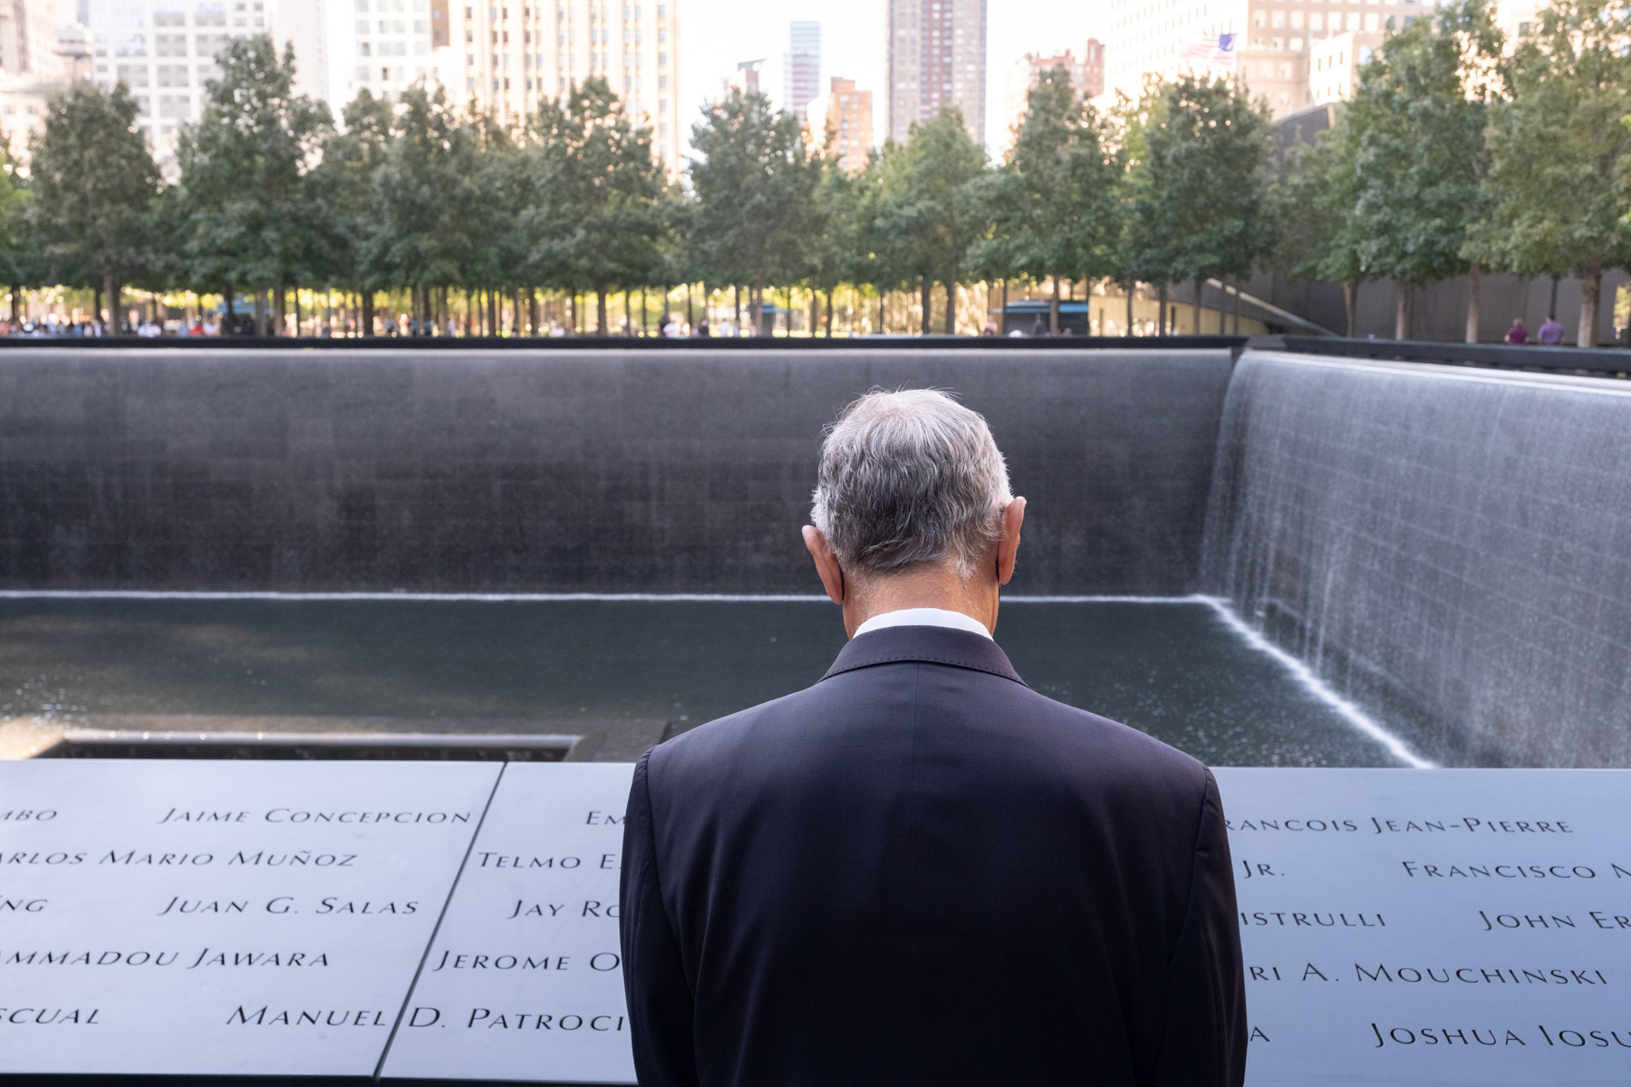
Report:
[[215,55],[233,37],[272,31],[271,0],[88,0],[91,80],[124,83],[153,156],[175,160],[176,129],[197,121]]

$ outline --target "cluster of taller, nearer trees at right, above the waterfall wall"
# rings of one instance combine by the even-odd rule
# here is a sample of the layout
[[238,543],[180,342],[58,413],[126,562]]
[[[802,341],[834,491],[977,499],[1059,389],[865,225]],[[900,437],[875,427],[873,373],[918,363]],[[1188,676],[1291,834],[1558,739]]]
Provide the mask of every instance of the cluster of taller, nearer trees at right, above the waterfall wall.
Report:
[[[1579,275],[1577,342],[1595,342],[1603,272],[1631,266],[1631,8],[1554,0],[1507,49],[1479,0],[1388,39],[1333,130],[1292,158],[1280,257],[1305,279],[1411,284]],[[1352,331],[1352,328],[1350,328]]]

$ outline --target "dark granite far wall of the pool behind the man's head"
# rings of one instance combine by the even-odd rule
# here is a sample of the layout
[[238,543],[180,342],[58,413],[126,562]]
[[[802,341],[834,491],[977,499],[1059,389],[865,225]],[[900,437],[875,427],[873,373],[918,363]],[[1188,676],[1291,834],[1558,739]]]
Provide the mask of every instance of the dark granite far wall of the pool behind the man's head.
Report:
[[1016,592],[1186,593],[1228,350],[0,354],[0,587],[817,592],[820,429],[956,389]]

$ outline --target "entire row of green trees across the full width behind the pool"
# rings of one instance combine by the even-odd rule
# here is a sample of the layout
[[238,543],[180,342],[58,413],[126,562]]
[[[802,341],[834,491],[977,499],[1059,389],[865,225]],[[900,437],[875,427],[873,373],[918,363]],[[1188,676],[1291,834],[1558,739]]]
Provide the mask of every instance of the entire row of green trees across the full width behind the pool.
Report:
[[[1161,324],[1173,284],[1274,262],[1359,285],[1391,277],[1398,334],[1409,285],[1579,274],[1590,344],[1602,274],[1631,262],[1631,8],[1556,0],[1507,51],[1486,0],[1458,0],[1391,36],[1355,99],[1313,145],[1275,156],[1261,104],[1225,80],[1151,81],[1099,111],[1063,70],[1044,73],[997,166],[953,109],[842,171],[760,95],[703,109],[682,179],[600,80],[545,103],[520,129],[414,86],[360,93],[336,125],[294,93],[292,55],[233,42],[202,119],[183,129],[165,184],[137,106],[77,85],[49,108],[28,178],[0,192],[0,272],[117,298],[122,284],[235,295],[354,292],[364,328],[380,290],[445,326],[452,290],[535,306],[701,284],[765,292],[840,285],[930,298],[967,282],[1151,284]],[[15,297],[15,293],[13,293]],[[1236,295],[1238,298],[1238,295]],[[98,306],[99,308],[99,303]],[[109,308],[113,308],[109,305]],[[574,321],[579,318],[574,311]],[[1054,328],[1059,311],[1054,306]],[[519,324],[520,321],[517,321]],[[282,328],[282,321],[277,321]],[[489,328],[497,321],[489,319]],[[537,319],[532,321],[538,326]]]

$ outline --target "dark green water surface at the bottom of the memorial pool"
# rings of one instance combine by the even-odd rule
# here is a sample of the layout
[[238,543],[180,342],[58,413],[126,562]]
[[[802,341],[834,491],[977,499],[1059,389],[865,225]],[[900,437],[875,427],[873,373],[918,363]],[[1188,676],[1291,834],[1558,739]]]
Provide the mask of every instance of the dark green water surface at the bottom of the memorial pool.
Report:
[[[1010,601],[1037,691],[1215,766],[1398,766],[1207,601]],[[581,732],[623,746],[814,683],[843,644],[819,600],[0,600],[0,755],[62,725]],[[1427,758],[1419,735],[1377,725]],[[631,758],[615,745],[599,758]]]

